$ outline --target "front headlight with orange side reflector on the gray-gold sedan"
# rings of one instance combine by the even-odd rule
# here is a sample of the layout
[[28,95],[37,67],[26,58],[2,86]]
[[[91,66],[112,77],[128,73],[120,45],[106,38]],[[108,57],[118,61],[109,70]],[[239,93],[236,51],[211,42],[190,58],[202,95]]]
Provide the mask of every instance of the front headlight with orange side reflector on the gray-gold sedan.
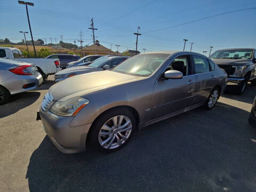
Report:
[[62,116],[75,116],[90,101],[81,97],[70,98],[66,101],[57,101],[51,108],[52,113]]

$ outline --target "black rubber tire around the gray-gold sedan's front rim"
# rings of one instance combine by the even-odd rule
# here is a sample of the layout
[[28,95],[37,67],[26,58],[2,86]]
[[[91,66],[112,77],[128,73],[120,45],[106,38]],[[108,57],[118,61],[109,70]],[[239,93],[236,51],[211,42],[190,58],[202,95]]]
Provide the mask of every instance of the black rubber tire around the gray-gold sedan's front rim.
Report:
[[[100,133],[101,127],[106,122],[108,122],[109,119],[111,119],[112,117],[115,117],[115,116],[119,116],[119,115],[126,116],[131,120],[131,124],[132,124],[131,132],[130,132],[129,137],[127,138],[127,140],[125,140],[124,143],[121,144],[119,147],[116,147],[116,148],[113,148],[113,149],[106,149],[106,148],[104,148],[100,145],[100,141],[99,141],[99,133]],[[95,122],[93,123],[93,125],[91,127],[91,130],[89,132],[89,138],[88,138],[90,149],[96,149],[96,150],[99,150],[99,151],[104,152],[104,153],[110,153],[110,152],[116,151],[118,149],[121,149],[132,138],[132,135],[133,135],[133,133],[135,132],[135,129],[136,129],[136,127],[135,127],[136,123],[135,122],[136,122],[135,117],[133,116],[131,111],[126,109],[126,108],[115,108],[115,109],[110,109],[110,110],[106,111],[105,113],[100,115],[95,120]]]

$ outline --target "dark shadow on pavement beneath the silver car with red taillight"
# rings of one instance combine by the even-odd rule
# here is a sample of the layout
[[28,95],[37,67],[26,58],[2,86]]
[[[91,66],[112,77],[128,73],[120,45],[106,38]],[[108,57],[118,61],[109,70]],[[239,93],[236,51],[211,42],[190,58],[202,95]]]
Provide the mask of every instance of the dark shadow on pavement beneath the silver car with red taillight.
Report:
[[36,91],[29,91],[13,95],[9,103],[0,106],[0,118],[12,115],[20,109],[30,106],[39,97],[40,93]]

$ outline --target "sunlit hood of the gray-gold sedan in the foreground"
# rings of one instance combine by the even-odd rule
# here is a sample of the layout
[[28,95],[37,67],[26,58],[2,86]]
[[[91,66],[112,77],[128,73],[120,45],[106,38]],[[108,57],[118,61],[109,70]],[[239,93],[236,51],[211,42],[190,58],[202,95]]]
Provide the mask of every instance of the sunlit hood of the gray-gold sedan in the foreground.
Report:
[[65,81],[54,84],[50,91],[55,101],[64,101],[72,97],[106,89],[107,87],[139,81],[145,78],[104,70],[69,77]]

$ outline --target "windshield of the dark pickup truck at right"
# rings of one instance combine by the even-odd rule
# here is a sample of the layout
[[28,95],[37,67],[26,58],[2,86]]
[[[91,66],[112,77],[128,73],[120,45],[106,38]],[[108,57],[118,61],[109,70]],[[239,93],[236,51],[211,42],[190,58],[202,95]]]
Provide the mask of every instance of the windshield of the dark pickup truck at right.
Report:
[[219,50],[215,51],[211,59],[252,59],[252,50]]

